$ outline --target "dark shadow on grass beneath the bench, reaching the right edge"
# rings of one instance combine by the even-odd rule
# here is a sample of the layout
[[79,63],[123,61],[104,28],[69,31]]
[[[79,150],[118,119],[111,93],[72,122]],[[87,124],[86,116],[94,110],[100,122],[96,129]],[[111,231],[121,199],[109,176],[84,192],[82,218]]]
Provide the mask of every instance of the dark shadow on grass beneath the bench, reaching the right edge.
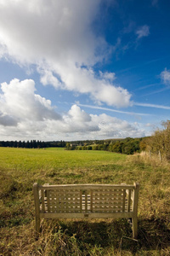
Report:
[[92,247],[100,247],[103,251],[112,247],[116,252],[127,251],[133,255],[138,255],[139,251],[149,253],[155,250],[159,252],[168,250],[170,246],[170,230],[161,218],[155,220],[140,219],[138,241],[133,240],[131,226],[126,219],[114,220],[110,223],[59,221],[55,222],[53,227],[53,234],[60,232],[65,235],[62,236],[65,243],[74,238],[74,242],[82,255],[91,255],[88,254],[88,249],[90,250]]

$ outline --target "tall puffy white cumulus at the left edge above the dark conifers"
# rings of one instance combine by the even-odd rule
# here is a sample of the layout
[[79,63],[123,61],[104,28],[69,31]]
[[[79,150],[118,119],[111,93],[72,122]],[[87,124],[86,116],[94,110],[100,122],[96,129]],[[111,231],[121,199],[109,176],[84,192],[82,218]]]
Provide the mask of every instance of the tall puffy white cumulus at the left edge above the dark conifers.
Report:
[[[31,79],[13,79],[9,84],[1,84],[0,108],[3,116],[1,124],[16,125],[20,120],[61,119],[51,107],[51,102],[35,94],[35,82]],[[2,123],[3,122],[3,123]]]

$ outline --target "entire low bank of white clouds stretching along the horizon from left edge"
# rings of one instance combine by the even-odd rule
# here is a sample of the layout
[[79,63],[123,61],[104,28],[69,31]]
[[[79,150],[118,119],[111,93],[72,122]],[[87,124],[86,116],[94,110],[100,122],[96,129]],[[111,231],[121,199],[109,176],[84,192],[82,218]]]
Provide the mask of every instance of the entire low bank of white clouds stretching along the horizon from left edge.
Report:
[[105,113],[86,113],[76,104],[59,115],[51,102],[35,93],[33,80],[13,79],[1,84],[0,140],[76,140],[108,137],[140,137],[135,124]]

